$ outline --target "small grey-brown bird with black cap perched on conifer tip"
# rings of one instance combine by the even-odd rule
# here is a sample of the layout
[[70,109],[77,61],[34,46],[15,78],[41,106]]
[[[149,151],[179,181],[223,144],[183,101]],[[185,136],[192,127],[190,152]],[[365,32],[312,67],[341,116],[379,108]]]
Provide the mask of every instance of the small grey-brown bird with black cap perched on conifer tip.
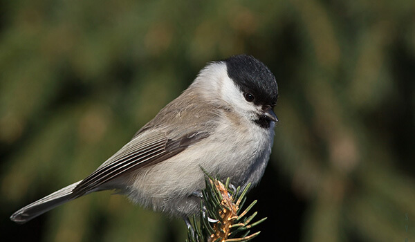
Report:
[[[26,223],[91,192],[116,190],[155,211],[187,218],[200,211],[205,172],[257,185],[273,146],[275,76],[250,55],[208,63],[190,86],[118,152],[77,183],[21,208]],[[203,171],[204,170],[204,171]]]

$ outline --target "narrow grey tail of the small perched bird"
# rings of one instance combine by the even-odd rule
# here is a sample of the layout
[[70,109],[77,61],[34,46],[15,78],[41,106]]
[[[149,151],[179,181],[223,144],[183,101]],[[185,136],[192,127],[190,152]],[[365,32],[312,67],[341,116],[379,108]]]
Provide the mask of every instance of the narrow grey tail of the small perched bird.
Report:
[[26,207],[22,207],[20,210],[12,214],[10,219],[16,223],[26,223],[40,214],[44,214],[45,212],[48,212],[63,203],[73,200],[74,197],[71,196],[72,190],[80,182],[81,181],[68,185],[53,194],[49,194],[48,196],[35,201],[35,203],[30,203]]

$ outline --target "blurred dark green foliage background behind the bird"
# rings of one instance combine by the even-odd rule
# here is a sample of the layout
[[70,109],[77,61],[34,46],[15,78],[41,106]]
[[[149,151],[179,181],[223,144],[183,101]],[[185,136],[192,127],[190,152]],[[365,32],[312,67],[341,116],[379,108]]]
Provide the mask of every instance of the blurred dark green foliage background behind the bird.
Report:
[[[255,241],[415,240],[415,1],[0,1],[2,241],[184,241],[180,219],[111,192],[25,225],[211,60],[279,84]],[[255,209],[255,208],[254,208]]]

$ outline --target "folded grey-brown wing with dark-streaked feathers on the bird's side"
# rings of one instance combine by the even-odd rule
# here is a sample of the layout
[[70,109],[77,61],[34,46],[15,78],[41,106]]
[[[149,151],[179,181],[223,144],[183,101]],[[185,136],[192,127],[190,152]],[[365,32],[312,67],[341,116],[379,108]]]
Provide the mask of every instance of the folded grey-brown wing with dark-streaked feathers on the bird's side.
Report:
[[176,139],[167,138],[163,133],[145,139],[133,139],[82,180],[73,189],[73,198],[98,190],[104,183],[129,171],[154,165],[175,156],[208,136],[208,133],[194,131]]

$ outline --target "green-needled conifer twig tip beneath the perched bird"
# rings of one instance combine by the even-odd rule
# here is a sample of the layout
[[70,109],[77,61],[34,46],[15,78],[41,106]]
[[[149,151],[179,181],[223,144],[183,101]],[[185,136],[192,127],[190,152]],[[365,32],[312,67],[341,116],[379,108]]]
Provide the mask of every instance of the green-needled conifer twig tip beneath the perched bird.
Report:
[[250,234],[250,229],[266,220],[262,218],[255,223],[251,221],[257,215],[254,212],[248,216],[248,212],[257,203],[254,201],[245,210],[242,210],[246,201],[248,184],[241,192],[241,187],[236,190],[230,188],[230,179],[225,185],[216,178],[207,176],[206,188],[202,191],[201,216],[192,218],[192,229],[187,232],[187,242],[239,242],[250,241],[259,234]]

